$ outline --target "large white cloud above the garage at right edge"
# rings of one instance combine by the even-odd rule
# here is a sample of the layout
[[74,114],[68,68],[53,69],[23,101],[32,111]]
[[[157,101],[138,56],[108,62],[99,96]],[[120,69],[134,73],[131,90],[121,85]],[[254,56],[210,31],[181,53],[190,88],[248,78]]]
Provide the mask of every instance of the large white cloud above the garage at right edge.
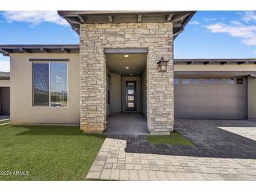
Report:
[[[252,14],[250,13],[250,18],[252,18]],[[245,21],[245,17],[248,17],[248,12],[245,12],[242,15],[241,20]],[[247,19],[249,20],[249,19]],[[248,23],[244,23],[238,20],[232,20],[228,25],[222,22],[217,22],[212,25],[204,26],[213,33],[225,33],[230,36],[239,37],[242,40],[242,43],[249,46],[256,46],[256,18],[255,24],[248,25]]]

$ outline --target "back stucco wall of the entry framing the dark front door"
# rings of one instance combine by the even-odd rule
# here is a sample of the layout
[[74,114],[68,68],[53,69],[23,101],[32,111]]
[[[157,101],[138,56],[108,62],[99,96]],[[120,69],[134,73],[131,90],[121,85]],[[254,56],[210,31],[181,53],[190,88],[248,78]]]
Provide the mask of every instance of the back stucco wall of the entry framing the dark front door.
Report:
[[136,81],[137,111],[141,112],[141,77],[122,76],[122,112],[126,112],[126,81]]

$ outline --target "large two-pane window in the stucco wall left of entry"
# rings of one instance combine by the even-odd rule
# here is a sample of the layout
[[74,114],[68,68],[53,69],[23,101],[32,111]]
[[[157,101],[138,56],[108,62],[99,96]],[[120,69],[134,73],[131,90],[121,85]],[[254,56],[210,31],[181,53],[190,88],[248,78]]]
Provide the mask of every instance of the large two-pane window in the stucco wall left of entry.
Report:
[[33,63],[33,106],[67,107],[67,63]]

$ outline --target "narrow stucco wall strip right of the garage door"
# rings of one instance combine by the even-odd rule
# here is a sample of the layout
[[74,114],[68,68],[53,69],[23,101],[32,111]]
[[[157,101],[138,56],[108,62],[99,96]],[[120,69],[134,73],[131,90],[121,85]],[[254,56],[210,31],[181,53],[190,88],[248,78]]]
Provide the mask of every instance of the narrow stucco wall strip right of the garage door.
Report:
[[248,77],[248,119],[256,121],[256,78]]

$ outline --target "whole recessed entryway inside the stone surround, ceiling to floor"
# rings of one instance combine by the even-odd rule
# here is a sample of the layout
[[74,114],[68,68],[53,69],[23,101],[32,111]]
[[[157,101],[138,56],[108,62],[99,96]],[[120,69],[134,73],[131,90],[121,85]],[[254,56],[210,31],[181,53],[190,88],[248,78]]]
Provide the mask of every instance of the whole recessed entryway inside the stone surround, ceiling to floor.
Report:
[[147,49],[105,49],[108,135],[147,135]]

